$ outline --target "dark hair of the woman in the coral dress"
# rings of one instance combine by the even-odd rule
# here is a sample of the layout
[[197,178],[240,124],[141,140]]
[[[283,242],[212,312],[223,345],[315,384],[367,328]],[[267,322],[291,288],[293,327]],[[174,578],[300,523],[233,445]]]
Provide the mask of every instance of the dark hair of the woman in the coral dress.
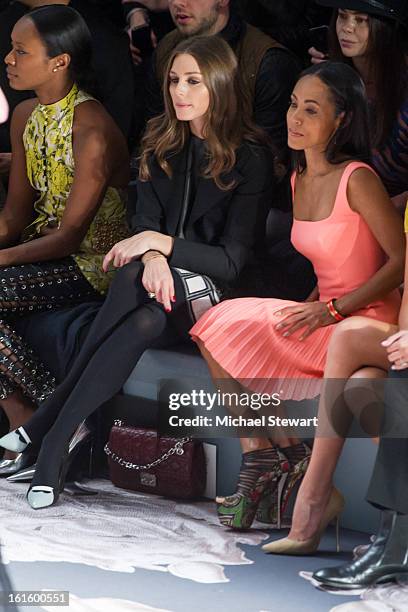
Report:
[[[316,76],[326,85],[336,117],[344,113],[338,129],[327,144],[327,161],[336,164],[355,159],[370,163],[367,95],[359,74],[342,62],[322,62],[304,70],[299,80],[305,76]],[[294,151],[293,158],[296,170],[302,172],[306,167],[304,152]]]

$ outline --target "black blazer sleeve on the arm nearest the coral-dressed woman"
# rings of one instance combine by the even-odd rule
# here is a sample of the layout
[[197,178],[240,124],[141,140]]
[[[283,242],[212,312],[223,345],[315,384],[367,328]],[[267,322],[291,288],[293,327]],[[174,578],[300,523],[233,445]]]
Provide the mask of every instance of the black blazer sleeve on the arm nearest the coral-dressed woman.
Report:
[[175,238],[171,266],[207,274],[223,285],[236,283],[265,227],[274,185],[271,153],[254,149],[245,146],[244,159],[237,165],[241,180],[229,200],[224,229],[216,243]]

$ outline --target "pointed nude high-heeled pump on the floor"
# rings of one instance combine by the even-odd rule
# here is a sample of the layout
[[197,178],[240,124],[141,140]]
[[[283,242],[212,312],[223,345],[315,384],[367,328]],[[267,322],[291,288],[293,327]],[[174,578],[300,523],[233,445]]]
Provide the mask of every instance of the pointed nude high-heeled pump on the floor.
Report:
[[262,550],[273,555],[310,555],[319,548],[320,540],[329,523],[336,521],[336,550],[340,552],[339,516],[344,509],[344,497],[333,487],[330,499],[320,522],[320,527],[314,536],[307,540],[291,540],[282,538],[262,546]]

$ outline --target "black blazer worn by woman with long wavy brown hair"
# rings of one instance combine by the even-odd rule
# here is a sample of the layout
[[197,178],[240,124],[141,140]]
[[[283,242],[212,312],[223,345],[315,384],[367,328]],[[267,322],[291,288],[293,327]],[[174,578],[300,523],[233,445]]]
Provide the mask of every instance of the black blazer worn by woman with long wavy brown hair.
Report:
[[[152,159],[151,180],[138,181],[131,223],[134,234],[154,230],[175,236],[183,200],[186,150],[169,158],[171,179]],[[168,259],[170,266],[207,274],[221,287],[237,284],[255,244],[265,233],[275,185],[272,153],[243,144],[234,169],[223,179],[234,179],[235,187],[222,191],[212,179],[198,179],[185,238],[174,239]]]

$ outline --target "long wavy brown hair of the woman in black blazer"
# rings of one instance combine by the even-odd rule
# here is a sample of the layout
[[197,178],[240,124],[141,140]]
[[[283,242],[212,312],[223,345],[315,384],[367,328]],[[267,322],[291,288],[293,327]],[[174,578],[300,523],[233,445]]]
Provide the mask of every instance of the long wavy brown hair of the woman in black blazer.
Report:
[[209,107],[203,127],[208,163],[203,176],[212,178],[219,189],[231,189],[234,183],[225,184],[221,175],[235,166],[236,151],[242,141],[245,139],[263,144],[267,142],[267,137],[244,116],[238,97],[237,59],[230,46],[219,36],[192,37],[181,42],[173,51],[163,83],[165,110],[147,124],[142,140],[139,178],[142,181],[150,180],[149,160],[152,156],[171,178],[169,158],[182,151],[190,138],[189,123],[177,119],[169,92],[169,74],[175,58],[181,54],[191,55],[196,60],[209,92]]

